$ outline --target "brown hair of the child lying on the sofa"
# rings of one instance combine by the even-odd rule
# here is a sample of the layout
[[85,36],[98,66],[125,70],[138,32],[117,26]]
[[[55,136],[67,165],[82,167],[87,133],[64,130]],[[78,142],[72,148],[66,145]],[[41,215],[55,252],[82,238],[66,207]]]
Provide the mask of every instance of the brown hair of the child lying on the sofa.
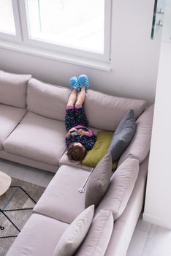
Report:
[[86,157],[86,154],[87,154],[87,151],[84,147],[74,145],[74,143],[72,143],[68,147],[67,156],[69,160],[82,162],[84,157]]

